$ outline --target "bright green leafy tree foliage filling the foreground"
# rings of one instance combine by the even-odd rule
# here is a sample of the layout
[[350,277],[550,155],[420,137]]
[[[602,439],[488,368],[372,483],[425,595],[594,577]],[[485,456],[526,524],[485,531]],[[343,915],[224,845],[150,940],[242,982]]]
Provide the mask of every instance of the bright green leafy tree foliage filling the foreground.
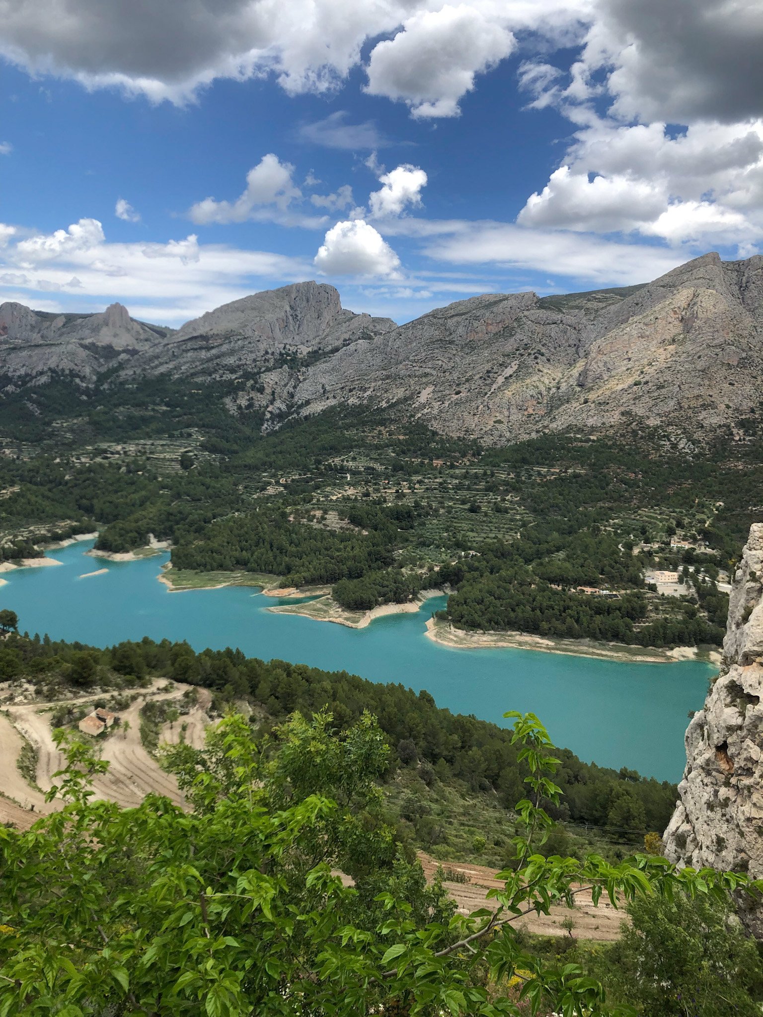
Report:
[[530,797],[505,886],[488,894],[495,910],[469,916],[425,888],[382,820],[388,749],[368,714],[341,734],[330,714],[297,714],[260,740],[229,716],[204,751],[167,750],[185,812],[156,796],[132,810],[92,800],[89,778],[107,764],[68,742],[64,809],[27,833],[0,830],[0,1015],[635,1013],[579,965],[528,953],[516,919],[571,907],[583,887],[614,903],[723,901],[758,885],[659,857],[536,853],[557,761],[534,715],[507,716]]

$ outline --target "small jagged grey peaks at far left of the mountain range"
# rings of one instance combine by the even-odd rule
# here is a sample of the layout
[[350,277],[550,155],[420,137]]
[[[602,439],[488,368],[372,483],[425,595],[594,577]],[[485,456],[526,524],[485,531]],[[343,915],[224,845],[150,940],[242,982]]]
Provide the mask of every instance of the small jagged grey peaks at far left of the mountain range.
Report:
[[163,342],[166,333],[133,320],[121,304],[101,314],[52,314],[0,304],[0,374],[37,383],[67,374],[92,382]]

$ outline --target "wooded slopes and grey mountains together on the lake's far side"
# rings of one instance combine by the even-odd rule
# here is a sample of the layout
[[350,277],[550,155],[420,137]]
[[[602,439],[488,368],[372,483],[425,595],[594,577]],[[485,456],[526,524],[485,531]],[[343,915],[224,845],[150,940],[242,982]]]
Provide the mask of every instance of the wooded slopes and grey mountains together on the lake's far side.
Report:
[[[464,634],[707,657],[763,479],[760,261],[472,298],[400,328],[314,283],[176,332],[123,309],[53,321],[3,305],[0,549],[12,561],[97,529],[100,551],[126,554],[151,535],[172,545],[170,582],[331,588],[313,615],[355,623],[446,589],[441,620]],[[436,384],[415,390],[427,343]],[[695,370],[702,357],[714,366]],[[532,397],[488,426],[491,400],[514,406],[549,371],[555,409]]]

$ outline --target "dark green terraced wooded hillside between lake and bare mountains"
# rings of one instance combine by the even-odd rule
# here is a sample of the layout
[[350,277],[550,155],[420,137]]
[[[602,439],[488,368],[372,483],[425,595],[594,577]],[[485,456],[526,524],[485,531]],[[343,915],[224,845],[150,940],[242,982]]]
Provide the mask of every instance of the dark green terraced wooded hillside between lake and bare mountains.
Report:
[[[481,448],[357,409],[263,433],[256,413],[225,411],[236,392],[159,379],[72,402],[59,381],[27,397],[32,414],[3,404],[0,553],[95,528],[120,552],[153,534],[179,570],[332,585],[351,610],[448,584],[464,629],[718,645],[718,576],[763,483],[754,421],[691,452],[643,427]],[[645,588],[650,569],[679,571],[683,595]],[[585,592],[599,587],[618,596]]]

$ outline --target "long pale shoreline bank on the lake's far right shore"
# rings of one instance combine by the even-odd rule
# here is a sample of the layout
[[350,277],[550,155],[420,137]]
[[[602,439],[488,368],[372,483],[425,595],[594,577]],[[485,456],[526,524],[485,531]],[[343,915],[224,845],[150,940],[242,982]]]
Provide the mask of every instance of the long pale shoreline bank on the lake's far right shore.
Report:
[[598,660],[615,660],[624,663],[672,664],[679,660],[699,660],[720,664],[720,653],[701,652],[694,646],[680,646],[673,650],[656,647],[626,646],[618,643],[590,643],[585,640],[548,639],[525,633],[471,633],[454,629],[449,622],[428,618],[426,635],[434,643],[455,650],[539,650],[543,653],[561,653]]

